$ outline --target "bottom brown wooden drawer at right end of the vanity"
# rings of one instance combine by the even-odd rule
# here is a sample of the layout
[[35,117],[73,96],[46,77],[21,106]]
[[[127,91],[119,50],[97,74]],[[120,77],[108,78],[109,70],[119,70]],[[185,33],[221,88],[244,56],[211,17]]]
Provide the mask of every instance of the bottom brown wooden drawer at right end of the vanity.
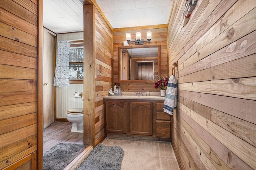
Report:
[[171,121],[156,121],[156,137],[171,137]]

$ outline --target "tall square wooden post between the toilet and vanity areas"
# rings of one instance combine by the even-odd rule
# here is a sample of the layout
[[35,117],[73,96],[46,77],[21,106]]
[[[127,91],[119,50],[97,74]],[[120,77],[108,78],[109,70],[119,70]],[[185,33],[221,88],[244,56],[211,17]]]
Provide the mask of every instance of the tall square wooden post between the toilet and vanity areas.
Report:
[[95,6],[84,5],[84,145],[95,147]]

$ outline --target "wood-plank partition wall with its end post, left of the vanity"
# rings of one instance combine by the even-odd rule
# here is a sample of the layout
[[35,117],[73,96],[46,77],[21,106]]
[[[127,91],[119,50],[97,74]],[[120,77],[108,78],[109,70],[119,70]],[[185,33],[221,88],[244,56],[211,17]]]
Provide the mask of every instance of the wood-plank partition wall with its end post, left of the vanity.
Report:
[[95,146],[106,137],[103,97],[113,85],[113,31],[93,4],[84,11],[84,143]]

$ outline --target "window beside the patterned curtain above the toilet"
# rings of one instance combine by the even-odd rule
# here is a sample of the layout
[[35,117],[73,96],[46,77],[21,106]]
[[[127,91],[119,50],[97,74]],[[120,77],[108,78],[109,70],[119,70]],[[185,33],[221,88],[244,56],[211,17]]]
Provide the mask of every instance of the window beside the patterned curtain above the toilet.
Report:
[[71,44],[69,48],[69,79],[71,84],[82,84],[84,79],[84,47]]

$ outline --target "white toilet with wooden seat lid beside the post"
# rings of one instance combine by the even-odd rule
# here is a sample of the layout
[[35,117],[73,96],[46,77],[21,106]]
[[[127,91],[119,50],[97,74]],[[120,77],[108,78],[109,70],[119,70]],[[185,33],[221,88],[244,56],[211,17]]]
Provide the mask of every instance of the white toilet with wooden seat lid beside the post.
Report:
[[72,122],[72,132],[84,133],[84,108],[68,109],[67,119]]

